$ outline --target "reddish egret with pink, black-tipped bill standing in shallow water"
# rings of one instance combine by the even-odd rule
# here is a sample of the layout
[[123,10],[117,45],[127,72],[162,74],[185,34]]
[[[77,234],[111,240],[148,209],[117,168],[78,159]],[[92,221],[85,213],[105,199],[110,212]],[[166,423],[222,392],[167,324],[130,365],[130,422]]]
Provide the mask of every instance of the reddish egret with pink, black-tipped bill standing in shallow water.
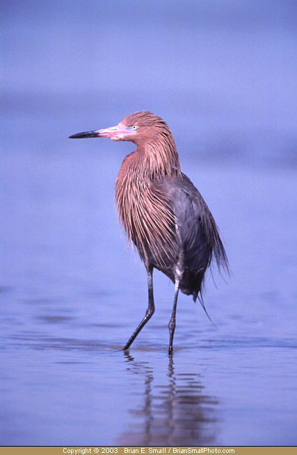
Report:
[[[110,137],[131,141],[136,151],[122,162],[115,181],[115,203],[128,239],[136,245],[147,270],[148,307],[128,349],[154,314],[152,272],[165,273],[175,284],[169,327],[172,353],[179,289],[202,300],[204,273],[213,259],[227,270],[227,256],[207,204],[179,166],[175,141],[167,124],[150,111],[125,116],[116,126],[70,136]],[[205,310],[206,311],[206,310]]]

